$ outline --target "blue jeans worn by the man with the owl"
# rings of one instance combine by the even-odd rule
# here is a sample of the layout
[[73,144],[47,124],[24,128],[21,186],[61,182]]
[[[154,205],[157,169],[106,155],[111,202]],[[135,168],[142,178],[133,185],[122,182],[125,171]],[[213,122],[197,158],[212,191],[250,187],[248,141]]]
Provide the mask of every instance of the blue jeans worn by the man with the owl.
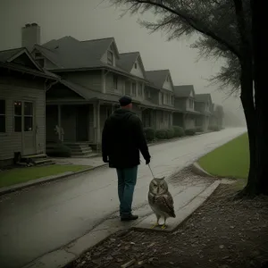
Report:
[[118,177],[118,197],[120,216],[128,216],[132,211],[134,188],[137,182],[138,165],[132,168],[116,169]]

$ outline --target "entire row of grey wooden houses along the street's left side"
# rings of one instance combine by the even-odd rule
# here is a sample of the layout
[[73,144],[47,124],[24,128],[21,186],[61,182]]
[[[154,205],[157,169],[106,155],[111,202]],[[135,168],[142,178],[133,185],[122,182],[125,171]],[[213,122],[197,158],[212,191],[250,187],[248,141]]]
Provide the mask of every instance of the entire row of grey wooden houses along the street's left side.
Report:
[[124,94],[144,127],[222,128],[222,106],[210,94],[173,85],[169,70],[146,71],[141,55],[120,54],[114,38],[39,41],[38,24],[26,24],[22,47],[0,52],[0,162],[45,154],[58,139],[74,152],[99,147]]

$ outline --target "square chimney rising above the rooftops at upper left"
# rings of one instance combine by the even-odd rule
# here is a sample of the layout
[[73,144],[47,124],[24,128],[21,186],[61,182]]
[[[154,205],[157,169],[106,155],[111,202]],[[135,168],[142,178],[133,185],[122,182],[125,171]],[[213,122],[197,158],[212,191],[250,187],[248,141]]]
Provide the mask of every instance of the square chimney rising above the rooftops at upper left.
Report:
[[35,44],[40,45],[40,27],[38,23],[27,23],[21,28],[21,46],[32,51]]

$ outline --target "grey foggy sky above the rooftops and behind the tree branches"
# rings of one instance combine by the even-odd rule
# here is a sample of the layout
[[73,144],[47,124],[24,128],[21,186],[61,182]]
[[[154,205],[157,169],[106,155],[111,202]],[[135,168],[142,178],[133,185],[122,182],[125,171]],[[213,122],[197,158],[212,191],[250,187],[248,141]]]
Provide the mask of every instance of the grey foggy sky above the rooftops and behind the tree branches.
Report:
[[[71,36],[79,40],[115,38],[119,52],[139,51],[147,71],[169,69],[174,85],[193,84],[196,93],[212,93],[216,104],[242,114],[239,99],[229,97],[216,86],[207,88],[222,61],[197,62],[197,50],[190,40],[166,41],[160,32],[149,34],[138,25],[138,17],[125,15],[103,0],[0,0],[0,50],[21,46],[21,27],[37,22],[41,44],[53,38]],[[150,14],[146,18],[154,20]],[[241,116],[241,115],[240,115]]]

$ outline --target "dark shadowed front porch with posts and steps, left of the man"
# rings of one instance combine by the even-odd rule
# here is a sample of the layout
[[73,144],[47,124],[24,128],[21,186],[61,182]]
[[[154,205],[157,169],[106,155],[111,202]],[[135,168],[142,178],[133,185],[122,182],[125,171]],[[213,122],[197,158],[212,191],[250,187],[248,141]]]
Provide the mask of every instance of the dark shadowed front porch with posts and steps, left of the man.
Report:
[[99,151],[106,118],[115,109],[112,104],[46,105],[46,148],[62,142],[71,148],[71,156],[88,157]]

